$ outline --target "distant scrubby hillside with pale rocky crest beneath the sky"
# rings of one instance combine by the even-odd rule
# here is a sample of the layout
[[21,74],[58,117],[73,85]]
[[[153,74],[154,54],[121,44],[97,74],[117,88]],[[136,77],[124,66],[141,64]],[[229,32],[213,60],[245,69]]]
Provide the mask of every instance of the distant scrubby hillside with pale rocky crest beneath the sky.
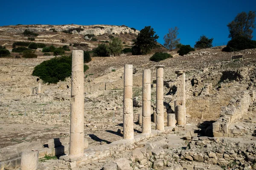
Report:
[[[24,36],[25,30],[39,34],[38,36]],[[76,31],[78,30],[78,31]],[[65,33],[66,32],[66,33]],[[81,49],[91,51],[100,43],[108,44],[112,37],[119,37],[123,41],[124,48],[131,48],[140,31],[127,26],[109,26],[109,25],[17,25],[0,27],[0,45],[6,46],[12,51],[14,42],[37,42],[44,43],[47,46],[54,45],[62,47],[69,45],[70,50]],[[28,38],[34,37],[34,41]],[[43,56],[41,49],[36,50],[38,56]],[[19,54],[12,54],[14,57]]]

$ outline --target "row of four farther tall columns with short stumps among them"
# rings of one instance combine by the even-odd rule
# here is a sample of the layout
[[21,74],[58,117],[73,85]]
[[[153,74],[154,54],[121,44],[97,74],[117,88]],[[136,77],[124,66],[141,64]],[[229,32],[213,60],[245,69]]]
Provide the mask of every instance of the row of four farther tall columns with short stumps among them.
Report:
[[[157,65],[157,94],[156,94],[156,129],[164,130],[164,106],[163,106],[163,68],[164,65]],[[175,101],[175,114],[168,114],[168,126],[186,124],[186,90],[185,73],[177,71],[177,101]],[[123,131],[124,139],[134,139],[133,125],[133,101],[132,65],[125,65],[124,71],[124,107],[123,107]],[[143,70],[143,93],[142,93],[142,114],[139,114],[138,122],[142,124],[142,133],[151,133],[151,72],[150,69]]]

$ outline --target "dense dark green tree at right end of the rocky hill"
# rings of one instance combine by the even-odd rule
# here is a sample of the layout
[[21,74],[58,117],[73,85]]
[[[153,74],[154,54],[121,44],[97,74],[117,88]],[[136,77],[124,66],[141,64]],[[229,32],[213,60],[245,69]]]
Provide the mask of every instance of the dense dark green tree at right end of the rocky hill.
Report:
[[132,54],[140,55],[150,53],[151,49],[156,47],[157,39],[159,38],[157,34],[154,35],[155,33],[151,26],[145,26],[138,34],[137,41],[134,42]]

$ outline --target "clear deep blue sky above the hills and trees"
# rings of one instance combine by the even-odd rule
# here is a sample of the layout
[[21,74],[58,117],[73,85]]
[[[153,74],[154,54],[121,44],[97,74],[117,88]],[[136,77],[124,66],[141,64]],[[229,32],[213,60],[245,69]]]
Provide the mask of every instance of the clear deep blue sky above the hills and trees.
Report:
[[[204,34],[213,45],[227,43],[238,13],[255,11],[256,0],[8,0],[2,1],[0,26],[16,24],[108,24],[137,30],[151,26],[163,44],[169,28],[179,28],[182,44],[194,46]],[[256,30],[253,32],[256,40]]]

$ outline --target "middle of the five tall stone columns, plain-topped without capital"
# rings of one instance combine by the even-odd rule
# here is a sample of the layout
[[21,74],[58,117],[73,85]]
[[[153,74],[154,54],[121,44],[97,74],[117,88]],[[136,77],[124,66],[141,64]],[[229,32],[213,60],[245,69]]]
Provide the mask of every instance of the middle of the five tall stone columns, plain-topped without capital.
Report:
[[143,70],[142,87],[142,133],[151,133],[151,73]]

